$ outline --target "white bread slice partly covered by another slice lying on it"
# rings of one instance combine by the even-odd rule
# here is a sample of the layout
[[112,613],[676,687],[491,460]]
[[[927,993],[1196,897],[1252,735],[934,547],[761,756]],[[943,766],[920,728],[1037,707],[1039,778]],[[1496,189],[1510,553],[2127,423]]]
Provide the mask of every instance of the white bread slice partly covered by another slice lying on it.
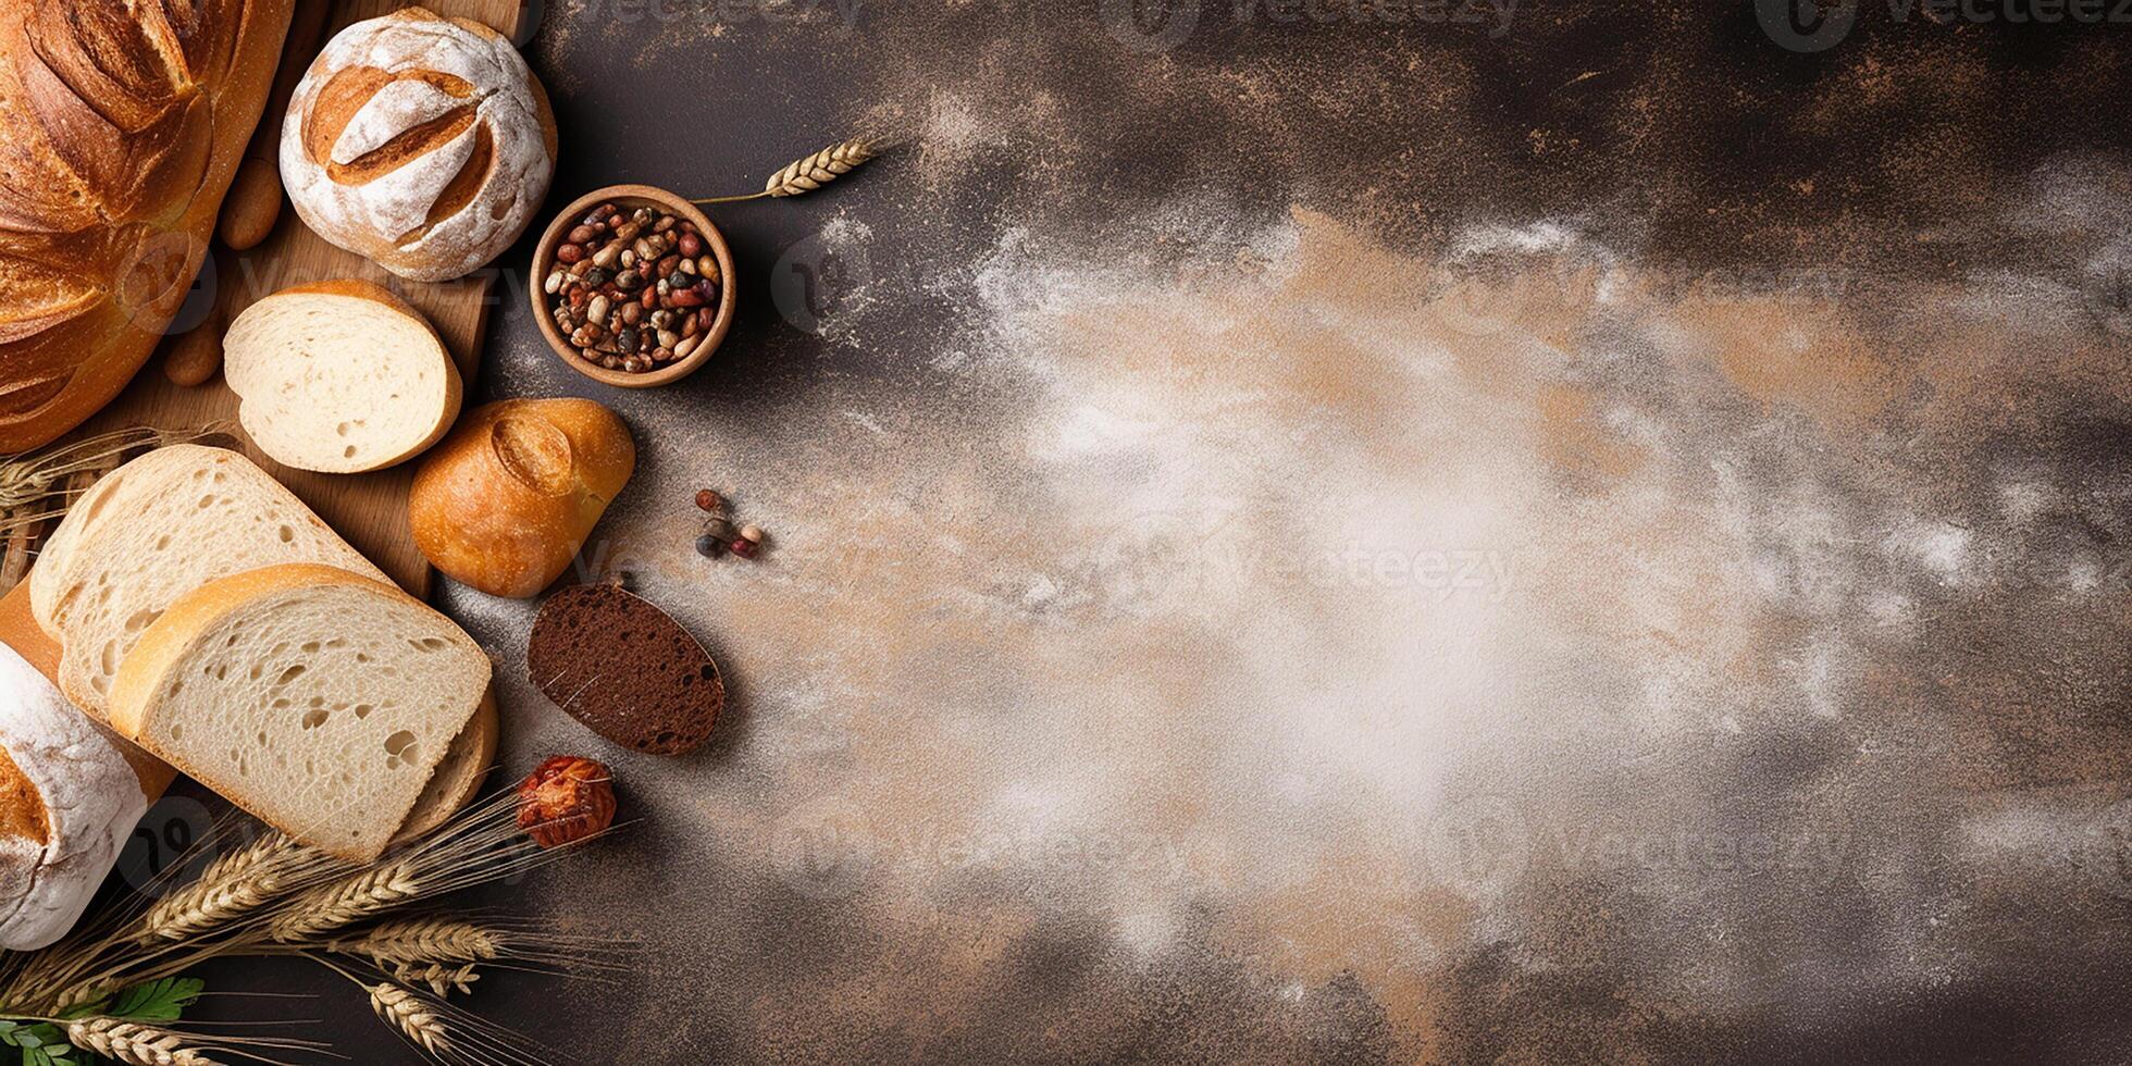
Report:
[[173,443],[107,473],[68,507],[30,571],[30,610],[60,642],[60,691],[96,718],[141,633],[181,595],[275,563],[386,580],[249,458]]

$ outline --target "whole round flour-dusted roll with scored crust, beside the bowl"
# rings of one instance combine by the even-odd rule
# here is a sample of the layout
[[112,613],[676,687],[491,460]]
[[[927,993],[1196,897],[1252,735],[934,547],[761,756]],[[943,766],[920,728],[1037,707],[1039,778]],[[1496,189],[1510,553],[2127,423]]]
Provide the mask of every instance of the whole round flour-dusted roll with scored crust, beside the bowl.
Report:
[[554,154],[548,94],[518,49],[418,6],[335,34],[281,124],[281,183],[303,222],[416,281],[510,247]]

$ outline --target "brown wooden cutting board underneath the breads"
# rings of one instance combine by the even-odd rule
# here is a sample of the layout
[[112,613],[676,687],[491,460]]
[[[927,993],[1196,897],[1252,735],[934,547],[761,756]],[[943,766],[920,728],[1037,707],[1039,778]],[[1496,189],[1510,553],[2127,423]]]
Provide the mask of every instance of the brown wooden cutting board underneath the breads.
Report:
[[[401,6],[409,4],[401,0],[335,0],[333,4],[298,0],[294,26],[281,51],[281,68],[275,75],[275,90],[266,100],[266,113],[260,117],[260,128],[247,147],[247,156],[273,162],[288,96],[330,34],[352,21],[384,15]],[[503,34],[516,34],[518,21],[527,17],[522,0],[431,0],[424,6],[439,15],[480,19]],[[322,13],[324,17],[320,17]],[[499,275],[495,266],[456,281],[405,281],[354,252],[328,245],[286,203],[281,205],[281,220],[264,243],[239,254],[217,241],[211,256],[211,264],[203,266],[196,298],[207,301],[211,296],[213,307],[196,328],[220,333],[239,311],[258,298],[294,284],[365,277],[399,292],[401,298],[429,316],[429,322],[437,326],[437,335],[443,337],[443,345],[458,360],[467,394],[473,394],[488,311],[495,307],[495,281]],[[141,424],[158,429],[224,429],[228,439],[211,443],[243,448],[245,454],[348,537],[356,550],[367,554],[409,593],[426,599],[433,571],[407,531],[407,484],[414,480],[414,463],[375,473],[307,473],[281,467],[260,454],[243,431],[237,429],[237,394],[230,392],[220,373],[194,388],[171,384],[162,360],[173,341],[175,337],[164,341],[156,358],[141,367],[141,373],[134,375],[132,384],[109,407],[58,443],[64,446],[83,435]],[[94,475],[83,475],[75,488],[85,488],[90,482],[94,482]],[[0,588],[11,588],[30,571],[36,542],[47,531],[49,522],[41,522],[9,537],[4,554],[0,554]]]

